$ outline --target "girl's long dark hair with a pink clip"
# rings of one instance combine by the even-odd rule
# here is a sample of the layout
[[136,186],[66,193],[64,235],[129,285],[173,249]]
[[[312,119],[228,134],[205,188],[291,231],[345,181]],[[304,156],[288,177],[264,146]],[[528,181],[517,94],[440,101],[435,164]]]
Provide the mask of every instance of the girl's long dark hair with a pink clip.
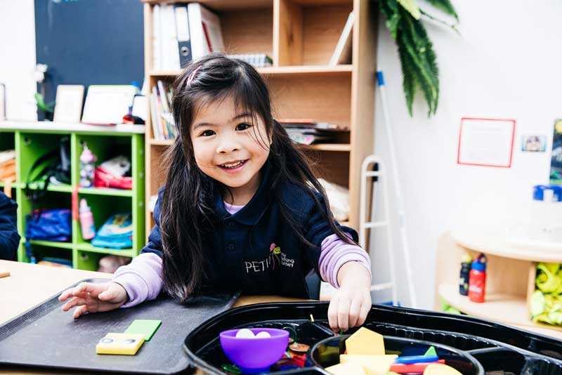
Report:
[[[252,114],[254,124],[257,124],[258,117],[265,123],[267,134],[254,133],[254,136],[263,147],[270,146],[266,162],[271,179],[269,196],[280,203],[282,218],[295,235],[304,244],[315,246],[303,237],[301,229],[296,226],[294,213],[282,202],[282,183],[285,181],[310,192],[332,231],[345,242],[353,243],[336,227],[326,192],[315,178],[305,154],[273,119],[269,91],[259,73],[242,60],[226,58],[221,54],[207,55],[192,62],[174,81],[171,105],[178,136],[166,152],[168,176],[162,192],[159,219],[164,247],[164,289],[179,301],[185,301],[204,281],[205,245],[211,246],[217,220],[213,208],[214,190],[228,191],[228,187],[209,178],[197,166],[190,126],[200,107],[226,98],[233,98],[237,108]],[[259,126],[253,126],[253,129],[259,129]],[[323,202],[313,190],[322,195]]]

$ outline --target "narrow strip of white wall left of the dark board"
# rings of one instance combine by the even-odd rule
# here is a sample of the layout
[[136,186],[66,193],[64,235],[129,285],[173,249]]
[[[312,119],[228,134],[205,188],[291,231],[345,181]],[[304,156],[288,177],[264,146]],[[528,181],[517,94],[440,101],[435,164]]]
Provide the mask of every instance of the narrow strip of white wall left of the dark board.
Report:
[[37,120],[33,0],[0,0],[0,83],[8,119]]

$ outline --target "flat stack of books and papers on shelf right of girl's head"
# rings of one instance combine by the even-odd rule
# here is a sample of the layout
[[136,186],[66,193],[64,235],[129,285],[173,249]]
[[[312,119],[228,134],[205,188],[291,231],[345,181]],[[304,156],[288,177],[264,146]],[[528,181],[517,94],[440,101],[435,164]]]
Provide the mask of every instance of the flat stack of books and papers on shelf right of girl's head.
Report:
[[316,122],[312,119],[280,119],[277,121],[285,128],[292,140],[303,145],[336,143],[338,136],[348,131],[336,124]]

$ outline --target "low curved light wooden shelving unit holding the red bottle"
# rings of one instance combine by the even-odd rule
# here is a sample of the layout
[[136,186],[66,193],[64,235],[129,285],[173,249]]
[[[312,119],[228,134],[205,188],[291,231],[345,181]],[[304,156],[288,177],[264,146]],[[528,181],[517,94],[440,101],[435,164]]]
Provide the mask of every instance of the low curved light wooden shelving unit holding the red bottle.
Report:
[[[488,258],[484,303],[474,303],[459,294],[462,254],[473,258],[481,252]],[[498,231],[485,228],[447,232],[439,239],[436,267],[435,309],[441,302],[485,320],[514,325],[562,339],[562,327],[532,322],[528,301],[535,290],[536,262],[562,262],[556,254],[510,244]]]

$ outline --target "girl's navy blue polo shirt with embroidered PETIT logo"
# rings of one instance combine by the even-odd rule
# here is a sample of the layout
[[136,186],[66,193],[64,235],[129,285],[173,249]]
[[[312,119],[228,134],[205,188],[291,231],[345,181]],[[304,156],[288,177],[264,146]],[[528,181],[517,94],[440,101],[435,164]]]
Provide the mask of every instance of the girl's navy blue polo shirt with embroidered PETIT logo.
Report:
[[[240,289],[244,294],[308,298],[305,276],[311,269],[320,275],[320,245],[326,237],[334,234],[311,194],[315,194],[323,204],[322,196],[285,182],[281,185],[281,202],[278,202],[269,189],[272,172],[267,166],[263,170],[256,194],[234,215],[226,211],[223,195],[220,189],[216,189],[214,209],[217,225],[212,238],[204,241],[205,254],[209,255],[204,284],[218,289]],[[141,253],[152,252],[162,256],[159,232],[161,197],[162,188],[154,211],[156,225]],[[287,208],[297,230],[315,246],[306,245],[295,235],[282,217],[282,205]],[[343,232],[351,234],[355,241],[358,240],[355,230],[337,225]]]

